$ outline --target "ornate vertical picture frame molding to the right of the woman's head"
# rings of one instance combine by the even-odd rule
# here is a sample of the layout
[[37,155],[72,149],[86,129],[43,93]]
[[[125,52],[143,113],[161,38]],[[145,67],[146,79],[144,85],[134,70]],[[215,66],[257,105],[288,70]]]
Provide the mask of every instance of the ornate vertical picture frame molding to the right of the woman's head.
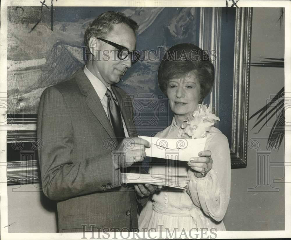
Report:
[[[245,168],[247,159],[252,8],[237,8],[233,73],[233,115],[231,128],[231,168]],[[221,8],[201,8],[199,47],[216,50],[220,56]],[[220,59],[215,68],[210,103],[219,115]],[[229,139],[230,140],[230,139]]]

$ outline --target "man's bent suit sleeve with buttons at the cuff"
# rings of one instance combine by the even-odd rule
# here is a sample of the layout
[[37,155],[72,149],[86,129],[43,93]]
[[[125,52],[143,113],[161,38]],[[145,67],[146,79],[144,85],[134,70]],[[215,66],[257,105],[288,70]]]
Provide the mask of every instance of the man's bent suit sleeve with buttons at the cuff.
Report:
[[[73,127],[62,93],[47,88],[38,109],[37,136],[42,188],[52,200],[108,190],[121,185],[120,170],[115,170],[111,152],[77,160],[72,154]],[[104,187],[105,186],[105,187]]]

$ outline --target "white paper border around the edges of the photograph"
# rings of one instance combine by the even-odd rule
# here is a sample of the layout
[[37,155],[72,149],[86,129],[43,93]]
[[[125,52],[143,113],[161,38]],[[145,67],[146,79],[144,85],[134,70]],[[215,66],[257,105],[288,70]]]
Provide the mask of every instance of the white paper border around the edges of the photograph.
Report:
[[[50,2],[50,1],[49,1]],[[228,1],[231,4],[231,1]],[[226,1],[173,1],[173,0],[148,0],[148,1],[110,1],[110,0],[98,0],[98,1],[68,1],[68,0],[58,0],[53,1],[54,6],[146,6],[146,7],[159,7],[159,6],[179,6],[179,7],[225,7]],[[39,0],[11,0],[11,1],[1,1],[1,64],[0,64],[0,73],[1,73],[1,85],[0,85],[0,94],[1,98],[7,97],[7,6],[39,6]],[[239,7],[283,7],[285,8],[285,98],[291,98],[291,2],[290,1],[239,1],[237,3]],[[290,111],[285,113],[285,121],[291,122]],[[5,128],[6,122],[6,112],[5,109],[1,108],[0,112],[0,122],[4,123],[4,127],[1,127],[1,141],[0,141],[0,192],[1,192],[1,238],[2,239],[81,239],[83,233],[71,234],[61,234],[61,233],[8,233],[8,204],[7,204],[7,176],[6,176],[6,135],[7,129]],[[217,232],[217,238],[286,238],[291,237],[291,191],[290,184],[290,156],[291,156],[291,132],[290,129],[285,128],[285,231],[226,231],[226,232]],[[289,130],[289,131],[288,131]],[[287,162],[289,162],[287,164]],[[3,184],[4,183],[4,184]],[[120,233],[108,233],[110,237],[121,237]],[[106,236],[108,235],[106,234]],[[115,234],[115,235],[114,235]],[[102,234],[100,234],[102,236]],[[124,236],[124,235],[123,235]],[[131,234],[132,236],[132,234]],[[143,236],[142,233],[139,236]],[[165,237],[165,233],[151,233],[150,237],[156,236],[156,239],[160,237]],[[180,236],[180,235],[178,235]],[[91,235],[86,234],[87,239],[90,239]],[[95,236],[96,237],[96,236]],[[137,236],[135,235],[137,238]],[[147,236],[149,237],[149,236]],[[198,236],[201,237],[201,234]],[[197,238],[198,238],[197,237]],[[203,236],[202,236],[203,237]],[[204,235],[205,237],[205,235]]]

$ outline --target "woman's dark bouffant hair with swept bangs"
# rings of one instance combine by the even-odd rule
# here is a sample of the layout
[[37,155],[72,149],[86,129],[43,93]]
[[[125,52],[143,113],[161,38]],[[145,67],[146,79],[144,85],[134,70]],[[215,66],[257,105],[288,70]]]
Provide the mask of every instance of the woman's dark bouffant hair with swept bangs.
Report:
[[200,85],[200,97],[203,99],[212,90],[214,66],[208,54],[191,43],[180,43],[166,51],[158,70],[159,88],[167,96],[168,81],[185,77],[192,72]]

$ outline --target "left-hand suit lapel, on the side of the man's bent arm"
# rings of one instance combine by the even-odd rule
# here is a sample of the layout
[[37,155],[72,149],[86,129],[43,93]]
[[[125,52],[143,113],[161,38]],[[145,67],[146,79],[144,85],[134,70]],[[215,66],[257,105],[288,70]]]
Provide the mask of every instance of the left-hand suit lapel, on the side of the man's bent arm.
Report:
[[81,69],[77,71],[75,77],[77,80],[77,84],[81,90],[81,93],[87,96],[86,104],[91,109],[92,113],[95,115],[95,117],[98,119],[100,124],[104,127],[108,135],[111,137],[111,139],[113,139],[117,146],[118,141],[116,139],[113,128],[109,122],[109,119],[107,118],[107,115],[104,111],[104,108],[101,104],[100,98],[98,97],[94,87],[90,83],[90,80],[84,73],[84,70]]

